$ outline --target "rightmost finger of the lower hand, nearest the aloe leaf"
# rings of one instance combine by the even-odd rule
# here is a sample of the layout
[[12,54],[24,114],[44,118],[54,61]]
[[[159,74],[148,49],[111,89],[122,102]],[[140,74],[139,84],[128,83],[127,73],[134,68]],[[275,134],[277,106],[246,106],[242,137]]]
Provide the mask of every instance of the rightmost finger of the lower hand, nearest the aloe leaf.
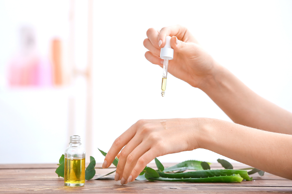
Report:
[[139,158],[135,167],[131,171],[131,174],[129,175],[129,178],[127,181],[128,182],[134,181],[139,176],[139,174],[144,170],[146,165],[150,163],[151,161],[153,161],[157,156],[158,154],[155,149],[149,149],[145,154],[143,154],[143,156]]

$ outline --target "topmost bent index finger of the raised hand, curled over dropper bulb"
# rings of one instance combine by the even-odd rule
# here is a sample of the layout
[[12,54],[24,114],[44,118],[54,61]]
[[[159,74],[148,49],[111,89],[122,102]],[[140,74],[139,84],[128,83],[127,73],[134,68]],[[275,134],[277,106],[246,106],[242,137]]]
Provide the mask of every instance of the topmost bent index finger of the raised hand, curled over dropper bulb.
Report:
[[160,48],[163,48],[165,45],[165,37],[166,36],[177,36],[179,39],[183,38],[183,35],[187,29],[181,25],[175,25],[175,26],[169,26],[169,27],[164,27],[161,29],[161,31],[158,34],[157,41],[161,41]]

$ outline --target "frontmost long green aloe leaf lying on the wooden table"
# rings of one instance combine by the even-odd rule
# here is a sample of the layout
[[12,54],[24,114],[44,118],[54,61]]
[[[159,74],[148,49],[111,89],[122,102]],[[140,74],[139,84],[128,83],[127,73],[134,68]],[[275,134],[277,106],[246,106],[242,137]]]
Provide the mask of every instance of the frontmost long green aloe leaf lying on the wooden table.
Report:
[[219,176],[208,178],[155,178],[150,177],[148,180],[152,181],[166,181],[166,182],[241,182],[243,178],[240,176]]

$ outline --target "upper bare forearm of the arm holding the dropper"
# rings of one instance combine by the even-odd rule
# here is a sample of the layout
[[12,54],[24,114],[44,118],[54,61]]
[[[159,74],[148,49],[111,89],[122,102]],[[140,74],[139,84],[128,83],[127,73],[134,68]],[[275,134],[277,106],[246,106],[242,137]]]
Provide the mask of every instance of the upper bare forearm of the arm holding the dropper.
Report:
[[292,113],[258,96],[226,68],[216,65],[215,71],[200,89],[235,123],[292,134]]

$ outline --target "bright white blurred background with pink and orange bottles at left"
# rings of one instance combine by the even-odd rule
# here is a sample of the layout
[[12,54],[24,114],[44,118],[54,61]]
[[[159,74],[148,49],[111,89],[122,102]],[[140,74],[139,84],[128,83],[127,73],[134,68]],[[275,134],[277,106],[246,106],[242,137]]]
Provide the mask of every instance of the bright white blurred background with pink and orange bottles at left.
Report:
[[[144,57],[151,27],[186,26],[252,90],[292,111],[291,10],[291,0],[0,0],[0,163],[57,163],[70,135],[103,162],[97,147],[108,151],[139,119],[231,121],[170,74],[161,97],[162,68]],[[160,160],[218,158],[197,149]]]

